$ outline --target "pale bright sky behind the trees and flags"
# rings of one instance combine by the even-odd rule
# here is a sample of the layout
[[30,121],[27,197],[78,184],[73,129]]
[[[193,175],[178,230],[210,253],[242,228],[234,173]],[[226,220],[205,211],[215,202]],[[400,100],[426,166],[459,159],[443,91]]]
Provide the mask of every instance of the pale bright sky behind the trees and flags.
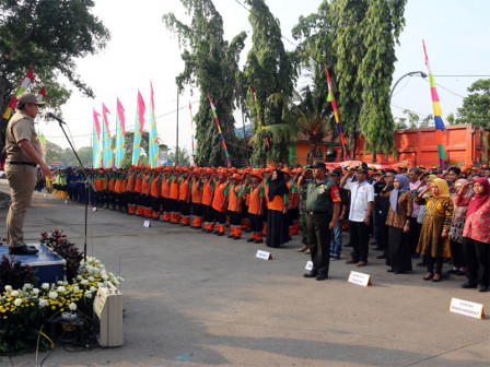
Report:
[[[224,35],[231,40],[242,31],[248,38],[241,55],[246,60],[252,43],[248,12],[241,5],[243,0],[214,0],[223,17]],[[300,15],[308,15],[318,9],[322,0],[267,0],[272,14],[279,19],[282,35],[294,43],[291,28]],[[94,91],[95,98],[86,98],[73,91],[62,116],[69,127],[75,149],[89,146],[92,138],[93,108],[102,113],[102,103],[109,111],[109,129],[115,132],[116,100],[120,99],[126,110],[126,127],[133,131],[138,91],[147,103],[149,128],[150,81],[153,83],[156,129],[159,139],[171,149],[176,145],[177,88],[175,76],[184,69],[178,40],[162,22],[162,15],[175,13],[178,20],[189,23],[190,17],[179,0],[116,1],[95,0],[93,14],[109,29],[112,38],[107,47],[95,56],[77,61],[77,72]],[[432,72],[438,83],[443,118],[456,114],[471,83],[490,78],[490,1],[488,0],[408,0],[406,25],[396,47],[398,61],[395,63],[393,84],[404,74],[427,71],[422,38],[425,40]],[[283,39],[287,49],[294,46]],[[443,76],[448,75],[448,76]],[[481,75],[481,76],[466,76]],[[73,86],[68,85],[71,90]],[[188,105],[192,114],[199,109],[198,91],[191,95],[187,87],[179,95],[178,143],[190,151],[191,129]],[[212,95],[212,91],[210,91]],[[432,102],[428,79],[407,76],[393,91],[392,111],[402,117],[404,109],[410,109],[424,118],[432,114]],[[236,126],[242,125],[235,114]],[[342,117],[340,116],[340,119]],[[46,138],[68,147],[57,122],[38,121],[37,129]]]

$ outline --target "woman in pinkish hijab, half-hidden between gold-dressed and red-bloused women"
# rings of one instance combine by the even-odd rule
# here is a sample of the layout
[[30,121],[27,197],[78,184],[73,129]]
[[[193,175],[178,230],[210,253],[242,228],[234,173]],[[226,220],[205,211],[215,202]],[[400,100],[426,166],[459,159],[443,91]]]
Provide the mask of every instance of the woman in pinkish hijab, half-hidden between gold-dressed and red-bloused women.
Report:
[[[454,182],[456,192],[453,200],[456,200],[456,194],[462,191],[466,183],[468,183],[468,180],[464,178]],[[453,256],[453,269],[448,271],[451,274],[465,275],[466,272],[463,253],[463,228],[465,227],[466,211],[468,210],[469,200],[469,194],[462,194],[459,201],[454,203],[453,221],[451,222],[450,227],[451,254]]]

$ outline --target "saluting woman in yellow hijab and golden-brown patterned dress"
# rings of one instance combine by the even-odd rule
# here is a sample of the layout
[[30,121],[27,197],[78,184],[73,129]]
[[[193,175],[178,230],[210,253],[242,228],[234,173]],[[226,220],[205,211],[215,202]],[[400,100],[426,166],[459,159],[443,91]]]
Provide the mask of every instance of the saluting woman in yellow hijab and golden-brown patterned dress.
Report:
[[[431,193],[424,198],[429,190]],[[441,282],[444,258],[451,258],[448,232],[454,211],[447,182],[441,178],[433,179],[416,198],[416,204],[427,205],[425,220],[417,246],[417,252],[425,257],[427,274],[423,280]]]

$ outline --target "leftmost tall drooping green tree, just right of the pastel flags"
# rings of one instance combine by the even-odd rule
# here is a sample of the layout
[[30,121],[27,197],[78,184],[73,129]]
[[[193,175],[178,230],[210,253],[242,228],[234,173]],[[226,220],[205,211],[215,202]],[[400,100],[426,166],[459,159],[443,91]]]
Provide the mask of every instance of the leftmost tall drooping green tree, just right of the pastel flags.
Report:
[[166,27],[177,34],[180,47],[185,48],[182,54],[185,68],[176,78],[177,87],[182,91],[188,84],[198,87],[200,92],[199,111],[195,116],[197,164],[222,166],[225,154],[208,94],[217,108],[233,162],[237,146],[233,110],[240,54],[244,48],[246,34],[242,32],[229,43],[223,37],[223,20],[211,0],[180,1],[191,16],[189,25],[177,20],[173,13],[163,15]]

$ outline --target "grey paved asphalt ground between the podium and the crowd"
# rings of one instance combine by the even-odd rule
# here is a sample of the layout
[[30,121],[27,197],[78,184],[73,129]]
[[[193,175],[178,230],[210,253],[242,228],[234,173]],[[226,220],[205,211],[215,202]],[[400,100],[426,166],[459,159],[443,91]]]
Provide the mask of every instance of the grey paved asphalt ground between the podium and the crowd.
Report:
[[[1,210],[2,233],[5,215]],[[35,194],[26,239],[60,228],[83,247],[83,205]],[[335,261],[329,280],[317,282],[302,276],[308,257],[296,252],[298,236],[266,261],[255,254],[267,248],[245,239],[164,223],[145,228],[140,217],[107,210],[90,211],[89,222],[89,254],[125,277],[125,342],[77,353],[58,347],[44,366],[490,365],[489,319],[448,311],[456,297],[490,313],[490,293],[462,289],[462,276],[424,282],[420,268],[395,275],[371,251],[369,267]],[[371,274],[373,286],[348,283],[351,270]],[[34,353],[0,362],[34,365]]]

